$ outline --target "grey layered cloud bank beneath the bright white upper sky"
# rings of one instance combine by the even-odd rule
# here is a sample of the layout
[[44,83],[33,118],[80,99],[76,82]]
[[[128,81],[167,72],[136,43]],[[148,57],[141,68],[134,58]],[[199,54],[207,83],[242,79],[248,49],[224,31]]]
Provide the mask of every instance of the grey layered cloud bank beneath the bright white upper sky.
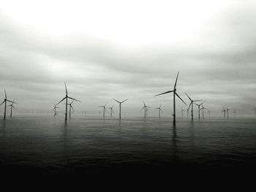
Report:
[[[38,34],[2,17],[0,86],[18,100],[20,110],[50,109],[64,96],[66,81],[70,94],[83,101],[78,110],[96,112],[98,105],[114,103],[113,97],[129,98],[124,112],[139,115],[143,99],[171,109],[170,96],[153,96],[172,89],[180,71],[178,94],[187,102],[185,91],[206,100],[215,115],[222,105],[250,115],[256,15],[255,7],[239,5],[207,20],[192,39],[134,47],[79,32]],[[178,102],[180,107],[186,108]]]

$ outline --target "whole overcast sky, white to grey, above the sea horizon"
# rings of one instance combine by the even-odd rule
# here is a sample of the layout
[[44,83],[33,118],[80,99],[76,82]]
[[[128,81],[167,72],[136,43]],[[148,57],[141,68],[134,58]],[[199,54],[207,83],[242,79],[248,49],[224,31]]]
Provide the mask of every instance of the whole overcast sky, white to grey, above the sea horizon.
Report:
[[[82,101],[76,111],[99,115],[99,105],[143,116],[162,104],[173,113],[170,91],[189,104],[206,101],[214,116],[222,107],[253,117],[256,106],[256,2],[0,1],[0,99],[4,88],[18,112],[53,109],[65,96]],[[177,116],[181,108],[176,100]],[[64,105],[60,104],[63,114]],[[0,107],[3,112],[3,106]],[[197,109],[196,109],[197,111]],[[108,115],[110,111],[108,110]],[[154,117],[157,110],[148,111]]]

